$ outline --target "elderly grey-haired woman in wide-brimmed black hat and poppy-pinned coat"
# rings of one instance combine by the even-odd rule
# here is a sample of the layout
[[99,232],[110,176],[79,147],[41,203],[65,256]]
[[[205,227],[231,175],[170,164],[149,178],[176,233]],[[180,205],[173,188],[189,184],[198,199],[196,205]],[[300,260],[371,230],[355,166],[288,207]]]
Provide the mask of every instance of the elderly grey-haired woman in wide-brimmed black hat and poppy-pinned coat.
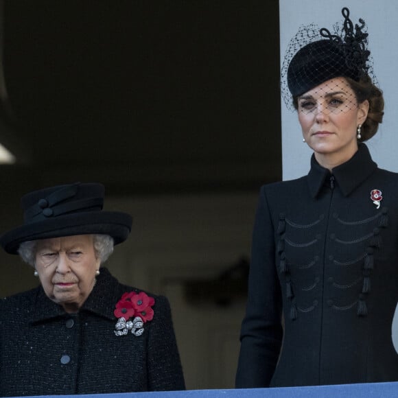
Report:
[[101,267],[132,224],[103,199],[94,183],[34,191],[23,226],[0,237],[40,279],[0,301],[1,397],[185,388],[167,299]]

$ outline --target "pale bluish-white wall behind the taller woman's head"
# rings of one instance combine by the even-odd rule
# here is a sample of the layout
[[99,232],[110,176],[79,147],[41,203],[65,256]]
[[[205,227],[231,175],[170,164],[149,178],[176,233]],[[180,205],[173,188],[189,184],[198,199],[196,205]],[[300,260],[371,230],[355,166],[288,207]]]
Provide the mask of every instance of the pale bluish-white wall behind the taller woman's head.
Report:
[[[368,141],[373,159],[379,167],[398,172],[397,112],[398,107],[398,8],[395,0],[280,0],[281,62],[290,39],[301,25],[316,23],[331,30],[342,22],[341,9],[348,7],[353,23],[365,20],[369,45],[374,60],[374,71],[386,102],[383,124],[373,139]],[[312,151],[303,143],[296,112],[291,112],[281,101],[283,179],[290,180],[307,174]]]

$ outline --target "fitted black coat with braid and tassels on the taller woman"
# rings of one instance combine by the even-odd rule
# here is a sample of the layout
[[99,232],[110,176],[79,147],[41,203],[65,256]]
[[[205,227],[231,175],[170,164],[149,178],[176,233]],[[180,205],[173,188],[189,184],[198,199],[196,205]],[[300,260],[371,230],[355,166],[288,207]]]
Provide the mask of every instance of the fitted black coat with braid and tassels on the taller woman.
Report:
[[236,386],[397,381],[397,301],[398,174],[364,144],[333,174],[312,156],[261,188]]

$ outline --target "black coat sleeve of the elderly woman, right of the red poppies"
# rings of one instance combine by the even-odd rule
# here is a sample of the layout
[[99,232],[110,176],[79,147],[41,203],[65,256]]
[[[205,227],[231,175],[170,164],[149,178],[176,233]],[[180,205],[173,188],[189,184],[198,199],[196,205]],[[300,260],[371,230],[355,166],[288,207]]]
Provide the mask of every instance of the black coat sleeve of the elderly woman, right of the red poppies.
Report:
[[164,296],[156,297],[154,314],[148,337],[149,390],[185,390],[172,313],[169,301]]

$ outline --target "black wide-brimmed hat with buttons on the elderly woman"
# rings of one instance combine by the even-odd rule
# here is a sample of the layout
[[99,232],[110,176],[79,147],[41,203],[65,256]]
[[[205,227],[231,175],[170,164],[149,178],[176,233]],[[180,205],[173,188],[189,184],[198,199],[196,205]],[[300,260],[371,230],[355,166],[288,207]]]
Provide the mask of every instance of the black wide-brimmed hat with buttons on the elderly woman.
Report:
[[36,239],[71,235],[110,235],[114,244],[124,242],[131,231],[132,217],[118,211],[104,211],[104,185],[75,183],[57,185],[22,197],[24,224],[0,236],[10,254],[19,245]]

